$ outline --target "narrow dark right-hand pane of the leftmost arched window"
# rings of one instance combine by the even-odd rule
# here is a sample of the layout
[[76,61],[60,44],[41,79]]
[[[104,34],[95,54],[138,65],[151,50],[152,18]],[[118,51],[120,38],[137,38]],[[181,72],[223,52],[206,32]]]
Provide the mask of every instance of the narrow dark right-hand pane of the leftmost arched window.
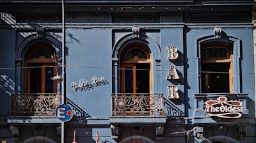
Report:
[[45,93],[54,93],[53,92],[53,80],[51,77],[54,77],[53,67],[45,68]]

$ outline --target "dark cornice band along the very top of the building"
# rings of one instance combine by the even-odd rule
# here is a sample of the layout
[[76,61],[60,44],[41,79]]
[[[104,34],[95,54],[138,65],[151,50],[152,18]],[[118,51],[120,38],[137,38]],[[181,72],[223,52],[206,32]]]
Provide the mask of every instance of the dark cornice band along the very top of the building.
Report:
[[[253,3],[236,3],[236,4],[204,4],[204,3],[69,3],[67,1],[67,13],[80,11],[97,11],[97,12],[164,12],[164,11],[249,11]],[[141,6],[143,5],[143,6]],[[0,11],[15,13],[61,13],[61,3],[1,3]]]

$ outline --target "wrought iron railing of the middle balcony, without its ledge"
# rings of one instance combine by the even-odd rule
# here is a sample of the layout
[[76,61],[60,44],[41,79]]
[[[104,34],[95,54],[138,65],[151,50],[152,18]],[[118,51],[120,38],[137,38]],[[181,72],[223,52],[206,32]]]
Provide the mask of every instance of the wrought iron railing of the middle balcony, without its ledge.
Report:
[[163,94],[112,94],[112,116],[164,116]]

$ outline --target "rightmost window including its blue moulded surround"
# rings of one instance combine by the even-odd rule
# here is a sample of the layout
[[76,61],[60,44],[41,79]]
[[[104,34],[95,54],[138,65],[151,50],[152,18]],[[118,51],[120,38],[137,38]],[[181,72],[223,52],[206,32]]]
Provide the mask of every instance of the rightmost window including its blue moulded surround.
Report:
[[[240,93],[241,75],[239,72],[241,63],[241,40],[232,36],[221,36],[221,38],[215,38],[214,35],[211,35],[199,38],[197,43],[198,78],[200,84],[199,92],[211,93],[212,90],[216,90],[214,93]],[[212,56],[209,56],[209,54]],[[217,69],[214,69],[214,67],[217,67]],[[221,67],[226,68],[225,70],[221,70]],[[208,73],[208,75],[206,75],[206,73]],[[220,76],[218,77],[217,73],[221,73],[221,75],[228,75],[224,77],[226,79],[228,78],[228,83],[226,83],[228,89],[220,88],[217,90],[216,88],[218,87],[215,87],[215,89],[207,91],[208,86],[211,88],[212,79],[221,78]],[[209,75],[214,75],[210,78],[210,81],[207,80],[207,76]],[[216,85],[218,82],[214,84]]]

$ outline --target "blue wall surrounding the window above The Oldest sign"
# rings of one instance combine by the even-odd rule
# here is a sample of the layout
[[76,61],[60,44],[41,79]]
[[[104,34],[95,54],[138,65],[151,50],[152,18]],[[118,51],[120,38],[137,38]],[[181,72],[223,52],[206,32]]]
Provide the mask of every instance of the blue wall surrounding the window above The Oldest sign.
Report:
[[[220,26],[221,27],[221,26]],[[212,36],[214,34],[212,29],[209,27],[197,29],[196,26],[188,27],[188,31],[186,32],[186,56],[188,58],[188,64],[186,68],[188,68],[188,98],[189,98],[189,106],[191,109],[188,109],[188,116],[193,116],[194,110],[194,100],[193,94],[198,94],[199,92],[199,80],[198,80],[198,58],[197,58],[197,47],[199,38],[203,38],[205,36]],[[252,29],[239,29],[239,27],[221,27],[223,33],[225,33],[230,40],[235,40],[234,43],[234,54],[239,55],[239,49],[241,53],[240,57],[240,65],[236,63],[234,64],[234,93],[248,93],[249,100],[247,101],[248,109],[250,110],[250,116],[254,116],[254,75],[253,75],[253,45],[252,45]],[[234,56],[234,62],[236,62],[239,56]],[[239,70],[240,69],[240,70]],[[240,72],[241,78],[239,78]],[[239,83],[240,80],[240,84]],[[242,86],[242,87],[238,87]],[[241,90],[240,90],[241,89]],[[240,91],[239,91],[240,90]]]

